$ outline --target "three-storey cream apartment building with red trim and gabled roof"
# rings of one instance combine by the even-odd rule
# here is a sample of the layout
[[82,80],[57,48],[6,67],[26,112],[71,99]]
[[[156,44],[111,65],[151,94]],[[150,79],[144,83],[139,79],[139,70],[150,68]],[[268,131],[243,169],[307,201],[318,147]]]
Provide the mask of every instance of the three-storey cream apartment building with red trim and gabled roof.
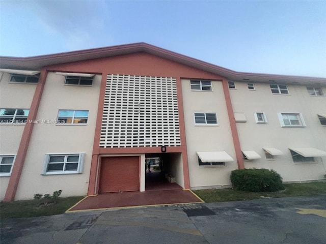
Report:
[[0,197],[184,189],[238,168],[326,174],[326,78],[242,73],[146,43],[0,57]]

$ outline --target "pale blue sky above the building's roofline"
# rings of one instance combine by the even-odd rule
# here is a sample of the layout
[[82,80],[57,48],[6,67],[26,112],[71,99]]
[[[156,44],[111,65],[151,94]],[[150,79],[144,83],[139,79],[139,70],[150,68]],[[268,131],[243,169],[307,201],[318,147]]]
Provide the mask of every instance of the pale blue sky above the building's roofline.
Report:
[[326,77],[326,1],[3,1],[0,55],[146,42],[227,69]]

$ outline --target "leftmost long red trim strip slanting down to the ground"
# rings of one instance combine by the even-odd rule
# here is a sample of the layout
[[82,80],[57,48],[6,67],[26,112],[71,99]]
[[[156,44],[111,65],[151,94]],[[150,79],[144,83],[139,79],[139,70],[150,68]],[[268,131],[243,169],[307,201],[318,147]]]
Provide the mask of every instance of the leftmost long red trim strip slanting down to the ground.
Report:
[[[47,77],[47,71],[45,69],[42,69],[39,81],[36,85],[34,97],[30,107],[30,113],[27,118],[28,121],[36,120],[36,115],[41,102],[41,97],[42,97],[46,77]],[[26,123],[24,127],[24,131],[22,133],[20,144],[17,151],[16,160],[12,168],[9,184],[4,198],[5,202],[15,200],[15,196],[18,189],[22,168],[24,166],[26,153],[29,148],[29,143],[31,140],[33,128],[34,128],[34,123]]]

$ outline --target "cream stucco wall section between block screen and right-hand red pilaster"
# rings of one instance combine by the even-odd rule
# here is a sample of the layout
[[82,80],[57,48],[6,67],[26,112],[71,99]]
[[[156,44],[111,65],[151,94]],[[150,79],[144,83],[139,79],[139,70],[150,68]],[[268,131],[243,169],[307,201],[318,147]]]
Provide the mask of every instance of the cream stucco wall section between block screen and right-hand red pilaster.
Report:
[[[230,185],[230,173],[237,169],[237,162],[222,82],[212,81],[212,92],[191,90],[187,79],[181,83],[190,186],[200,189]],[[219,125],[195,126],[195,112],[216,113]],[[234,162],[223,167],[200,167],[196,151],[226,151]]]

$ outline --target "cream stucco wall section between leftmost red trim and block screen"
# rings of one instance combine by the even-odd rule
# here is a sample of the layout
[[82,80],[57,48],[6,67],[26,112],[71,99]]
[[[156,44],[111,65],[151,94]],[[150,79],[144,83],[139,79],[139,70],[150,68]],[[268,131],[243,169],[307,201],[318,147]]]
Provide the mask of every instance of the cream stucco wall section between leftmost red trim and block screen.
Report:
[[[101,75],[92,86],[64,85],[65,77],[48,73],[36,120],[55,120],[59,109],[89,110],[87,125],[35,124],[15,200],[31,199],[36,193],[62,196],[87,194]],[[42,175],[46,154],[85,153],[80,174]]]

